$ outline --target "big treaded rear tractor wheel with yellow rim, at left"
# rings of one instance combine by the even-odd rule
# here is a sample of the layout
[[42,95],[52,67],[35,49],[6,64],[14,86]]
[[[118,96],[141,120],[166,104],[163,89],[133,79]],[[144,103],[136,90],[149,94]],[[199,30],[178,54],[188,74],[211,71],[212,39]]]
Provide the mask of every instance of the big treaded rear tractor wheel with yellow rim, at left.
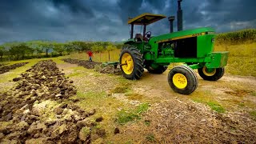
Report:
[[143,55],[134,46],[126,46],[122,49],[119,62],[123,77],[132,80],[142,77]]

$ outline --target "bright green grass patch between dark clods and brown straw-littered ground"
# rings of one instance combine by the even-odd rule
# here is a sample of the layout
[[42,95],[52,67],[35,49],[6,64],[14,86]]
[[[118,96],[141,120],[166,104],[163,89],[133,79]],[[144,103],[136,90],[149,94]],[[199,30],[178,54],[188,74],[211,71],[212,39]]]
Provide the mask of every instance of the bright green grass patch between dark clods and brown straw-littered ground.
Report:
[[136,119],[141,118],[141,114],[149,109],[148,103],[142,103],[135,110],[121,110],[118,112],[117,122],[118,124],[126,124],[127,122],[132,122]]

